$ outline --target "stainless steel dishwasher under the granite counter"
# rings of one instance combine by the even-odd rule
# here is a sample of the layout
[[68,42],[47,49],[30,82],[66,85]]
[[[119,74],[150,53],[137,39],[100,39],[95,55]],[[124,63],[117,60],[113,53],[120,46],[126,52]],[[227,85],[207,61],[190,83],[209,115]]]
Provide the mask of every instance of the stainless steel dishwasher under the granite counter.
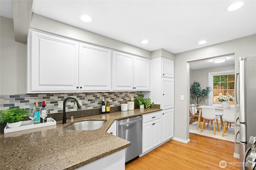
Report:
[[125,148],[125,162],[142,153],[142,116],[117,121],[117,136],[131,142]]

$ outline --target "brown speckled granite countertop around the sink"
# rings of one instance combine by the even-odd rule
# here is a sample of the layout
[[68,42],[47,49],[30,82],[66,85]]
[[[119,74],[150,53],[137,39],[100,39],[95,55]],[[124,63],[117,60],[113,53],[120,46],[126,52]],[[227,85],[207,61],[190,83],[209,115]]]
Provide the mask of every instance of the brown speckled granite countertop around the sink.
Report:
[[[130,142],[106,132],[114,120],[162,109],[134,109],[67,119],[67,124],[0,134],[1,169],[73,170],[130,146]],[[49,116],[50,117],[50,116]],[[96,130],[65,130],[72,123],[105,120]]]

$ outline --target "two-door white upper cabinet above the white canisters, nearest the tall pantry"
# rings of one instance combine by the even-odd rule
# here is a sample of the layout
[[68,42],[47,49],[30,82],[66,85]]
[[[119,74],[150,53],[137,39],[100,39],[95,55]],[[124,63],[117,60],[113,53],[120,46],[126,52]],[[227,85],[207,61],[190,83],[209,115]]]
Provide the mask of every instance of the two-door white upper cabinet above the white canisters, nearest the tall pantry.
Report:
[[150,60],[113,51],[112,89],[149,91]]

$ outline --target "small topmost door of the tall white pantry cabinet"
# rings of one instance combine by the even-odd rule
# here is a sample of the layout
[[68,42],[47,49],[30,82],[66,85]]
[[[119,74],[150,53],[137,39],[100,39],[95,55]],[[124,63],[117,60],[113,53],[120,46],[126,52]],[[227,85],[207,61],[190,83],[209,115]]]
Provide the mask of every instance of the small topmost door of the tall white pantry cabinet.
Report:
[[174,61],[162,58],[162,77],[174,77]]

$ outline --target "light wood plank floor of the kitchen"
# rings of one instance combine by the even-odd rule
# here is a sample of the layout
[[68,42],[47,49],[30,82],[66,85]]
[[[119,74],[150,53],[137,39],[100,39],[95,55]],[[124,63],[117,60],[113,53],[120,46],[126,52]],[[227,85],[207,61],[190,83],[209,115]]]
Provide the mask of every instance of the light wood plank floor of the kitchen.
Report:
[[[148,154],[130,162],[126,170],[240,170],[233,157],[234,142],[190,133],[188,144],[170,140]],[[220,168],[220,161],[227,162]],[[233,164],[230,165],[230,164]]]

